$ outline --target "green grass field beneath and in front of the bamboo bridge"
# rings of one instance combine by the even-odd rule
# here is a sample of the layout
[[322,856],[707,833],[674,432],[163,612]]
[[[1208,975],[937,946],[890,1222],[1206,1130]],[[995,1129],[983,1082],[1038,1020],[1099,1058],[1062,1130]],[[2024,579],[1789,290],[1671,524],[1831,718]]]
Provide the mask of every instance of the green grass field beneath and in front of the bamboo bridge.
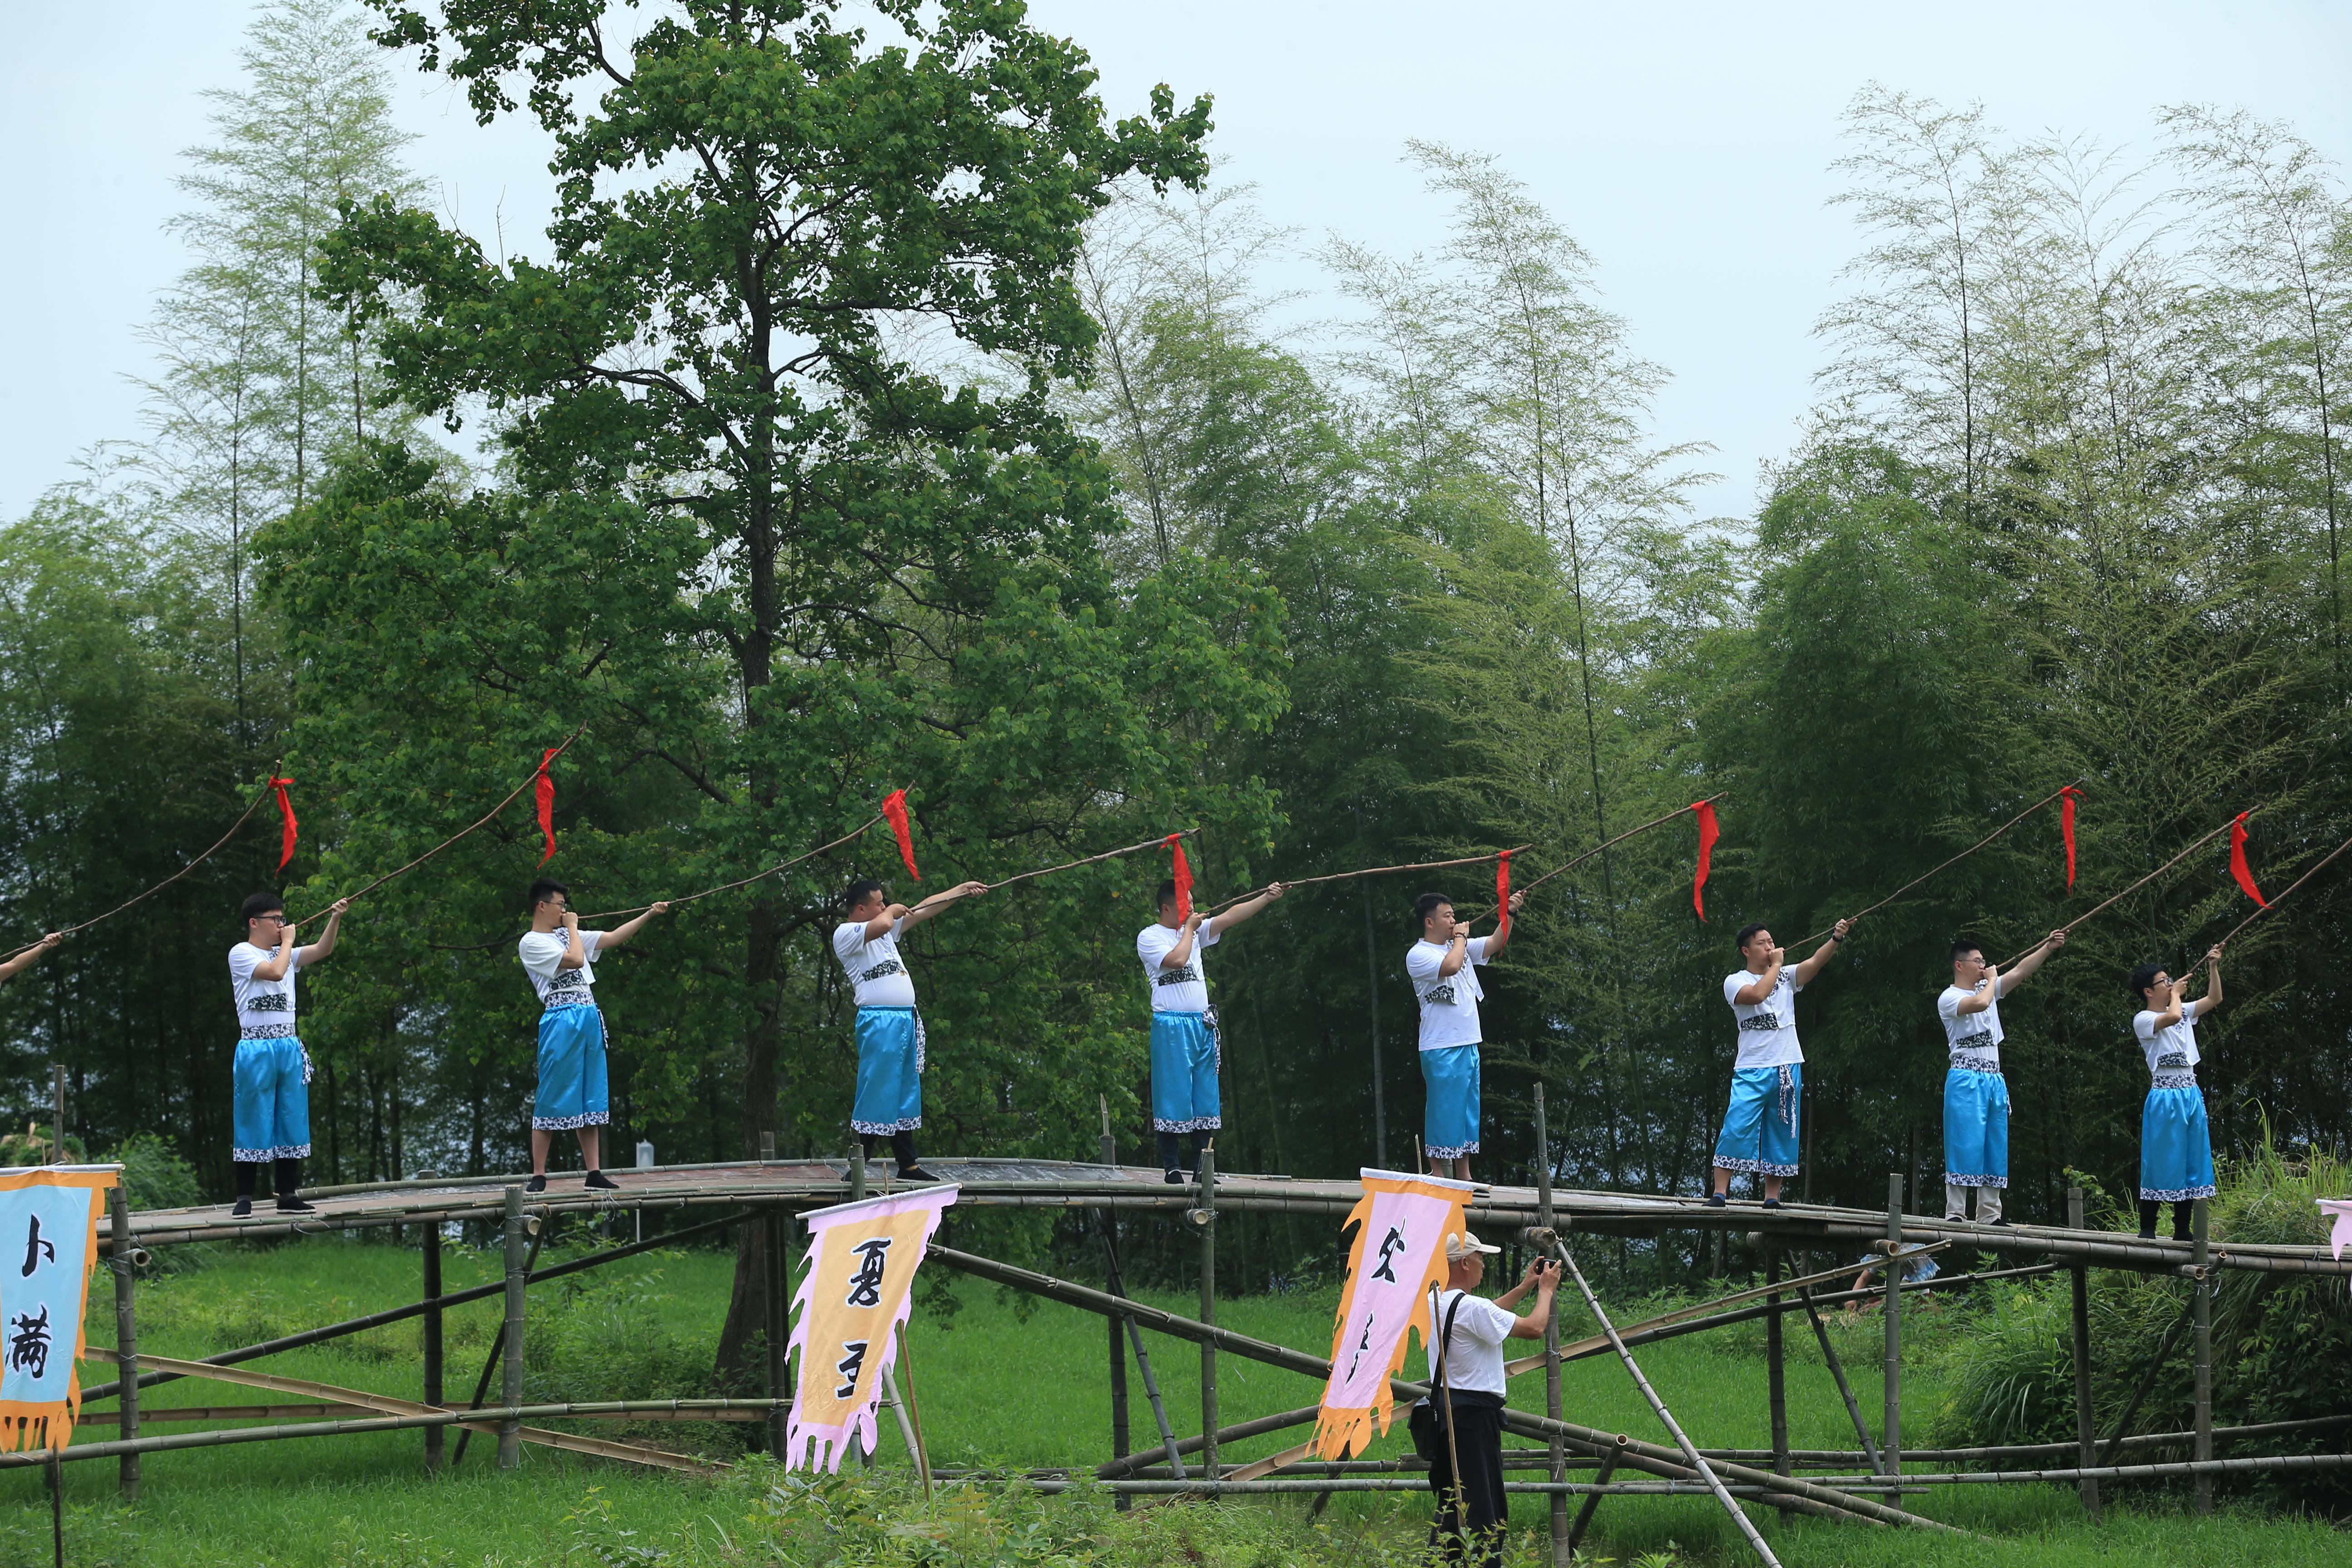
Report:
[[[652,1253],[576,1274],[532,1293],[529,1399],[616,1399],[706,1394],[710,1345],[727,1307],[731,1253]],[[494,1279],[489,1253],[447,1251],[447,1288]],[[296,1328],[358,1316],[416,1293],[416,1253],[350,1239],[216,1251],[207,1267],[139,1286],[141,1347],[202,1356]],[[957,1284],[960,1309],[920,1312],[910,1354],[927,1434],[938,1465],[1087,1465],[1108,1453],[1110,1399],[1105,1328],[1091,1314],[1016,1302],[976,1281]],[[1192,1312],[1190,1298],[1162,1305]],[[1322,1349],[1336,1291],[1240,1298],[1221,1321],[1258,1338]],[[1642,1312],[1628,1302],[1621,1319]],[[470,1392],[496,1331],[499,1302],[449,1314],[449,1396]],[[1576,1314],[1571,1314],[1576,1321]],[[1917,1446],[1940,1396],[1938,1345],[1966,1333],[1950,1305],[1905,1314],[1905,1441]],[[1797,1446],[1851,1446],[1853,1432],[1802,1319],[1790,1335],[1790,1436]],[[1867,1413],[1879,1408],[1877,1319],[1839,1324],[1839,1354]],[[103,1276],[92,1298],[89,1340],[113,1342]],[[1145,1335],[1152,1371],[1178,1434],[1197,1429],[1200,1356]],[[1764,1446],[1762,1326],[1649,1347],[1644,1371],[1696,1441]],[[1416,1352],[1418,1359],[1418,1352]],[[252,1363],[386,1394],[421,1394],[421,1331],[414,1321]],[[1416,1363],[1409,1363],[1409,1371]],[[85,1375],[103,1378],[99,1363]],[[1541,1403],[1534,1378],[1515,1403]],[[1152,1439],[1141,1382],[1131,1378],[1136,1441]],[[1305,1378],[1218,1359],[1225,1422],[1315,1399]],[[216,1382],[183,1380],[146,1394],[146,1408],[285,1399]],[[1566,1410],[1595,1427],[1668,1441],[1613,1359],[1566,1373]],[[174,1432],[188,1427],[151,1427]],[[581,1422],[630,1441],[687,1446],[736,1458],[736,1434],[710,1425]],[[1305,1500],[1110,1512],[1098,1495],[1037,1497],[1021,1488],[962,1488],[924,1507],[908,1486],[906,1453],[889,1418],[880,1467],[837,1483],[776,1476],[760,1458],[724,1481],[652,1474],[623,1465],[527,1448],[515,1474],[492,1467],[492,1443],[475,1441],[463,1467],[423,1474],[414,1432],[249,1443],[200,1453],[151,1453],[143,1497],[115,1497],[115,1465],[66,1467],[66,1561],[120,1566],[285,1563],[318,1568],[440,1568],[475,1563],[1409,1563],[1418,1556],[1423,1495],[1343,1495],[1308,1523]],[[80,1441],[111,1427],[85,1425]],[[1230,1446],[1228,1460],[1272,1453],[1303,1436],[1275,1434]],[[454,1436],[452,1436],[454,1446]],[[1399,1429],[1376,1453],[1404,1446]],[[1536,1563],[1543,1502],[1515,1500],[1522,1540],[1512,1561]],[[1790,1521],[1759,1509],[1762,1528],[1788,1563],[2331,1563],[2352,1537],[2324,1521],[2279,1519],[2227,1505],[2213,1519],[2185,1514],[2183,1497],[2129,1488],[2103,1526],[2089,1526],[2070,1490],[1943,1488],[1912,1507],[1992,1535],[1990,1544],[1912,1530]],[[1595,1561],[1752,1561],[1731,1523],[1703,1497],[1609,1500],[1588,1537]],[[49,1505],[38,1472],[0,1476],[0,1568],[49,1561]]]

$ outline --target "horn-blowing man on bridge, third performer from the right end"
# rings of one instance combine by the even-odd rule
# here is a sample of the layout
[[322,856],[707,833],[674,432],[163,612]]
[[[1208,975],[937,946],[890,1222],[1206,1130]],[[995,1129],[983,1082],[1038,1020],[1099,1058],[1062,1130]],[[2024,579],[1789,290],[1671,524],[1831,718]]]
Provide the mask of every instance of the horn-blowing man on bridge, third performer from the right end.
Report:
[[1733,943],[1745,969],[1724,976],[1724,1001],[1738,1020],[1740,1048],[1731,1067],[1731,1107],[1715,1135],[1715,1190],[1708,1206],[1731,1197],[1731,1173],[1755,1171],[1764,1180],[1764,1208],[1780,1206],[1780,1178],[1797,1175],[1797,1117],[1804,1098],[1804,1048],[1797,1044],[1797,992],[1813,983],[1846,940],[1851,919],[1837,922],[1804,964],[1783,969],[1764,926],[1740,926]]

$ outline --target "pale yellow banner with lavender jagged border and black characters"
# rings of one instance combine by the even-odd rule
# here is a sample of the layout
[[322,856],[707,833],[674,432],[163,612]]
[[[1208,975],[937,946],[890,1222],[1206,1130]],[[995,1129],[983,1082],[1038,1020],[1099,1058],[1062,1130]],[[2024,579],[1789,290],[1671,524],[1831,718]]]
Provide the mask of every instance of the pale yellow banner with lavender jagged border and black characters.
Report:
[[783,1434],[786,1469],[840,1469],[851,1434],[875,1450],[882,1378],[898,1359],[891,1328],[906,1321],[915,1267],[955,1194],[917,1187],[802,1215],[809,1258],[793,1298],[800,1385]]

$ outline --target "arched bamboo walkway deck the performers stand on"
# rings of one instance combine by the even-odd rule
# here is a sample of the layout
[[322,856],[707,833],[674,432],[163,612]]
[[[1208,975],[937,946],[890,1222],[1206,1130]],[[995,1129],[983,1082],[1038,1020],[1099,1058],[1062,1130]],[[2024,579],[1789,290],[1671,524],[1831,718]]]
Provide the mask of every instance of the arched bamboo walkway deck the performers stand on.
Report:
[[[1200,1201],[1192,1185],[1167,1185],[1157,1168],[1105,1166],[1054,1159],[948,1159],[927,1157],[924,1168],[941,1180],[962,1185],[962,1204],[1002,1208],[1120,1208],[1181,1213]],[[875,1166],[868,1192],[889,1190],[887,1166]],[[771,1159],[708,1166],[654,1166],[614,1171],[619,1192],[593,1192],[576,1171],[550,1175],[543,1194],[524,1199],[541,1213],[666,1213],[727,1206],[816,1208],[849,1199],[847,1161]],[[289,1237],[355,1229],[369,1225],[416,1225],[433,1220],[499,1220],[506,1190],[520,1175],[416,1178],[405,1182],[369,1182],[353,1187],[318,1187],[303,1197],[318,1204],[310,1215],[280,1215],[268,1204],[252,1218],[230,1218],[226,1204],[202,1208],[151,1208],[129,1220],[141,1246],[174,1241],[226,1241],[235,1237]],[[1218,1211],[1310,1213],[1338,1220],[1362,1197],[1352,1180],[1315,1180],[1291,1175],[1218,1173]],[[1733,1201],[1710,1208],[1691,1197],[1644,1197],[1628,1192],[1555,1190],[1552,1206],[1562,1232],[1651,1237],[1668,1229],[1726,1229],[1762,1234],[1780,1246],[1820,1251],[1860,1251],[1886,1239],[1886,1213],[1870,1208],[1832,1208],[1823,1204],[1788,1204],[1762,1208]],[[1534,1187],[1484,1187],[1470,1206],[1470,1222],[1503,1239],[1536,1225]],[[111,1225],[99,1227],[111,1246]],[[2194,1276],[2187,1241],[2140,1241],[2107,1229],[2065,1229],[2053,1225],[1969,1225],[1938,1215],[1905,1215],[1907,1244],[1952,1241],[2006,1258],[2065,1260],[2091,1267],[2133,1269],[2143,1274]],[[2336,1260],[2324,1246],[2244,1246],[2216,1244],[2213,1267],[2277,1274],[2352,1276],[2352,1258]]]

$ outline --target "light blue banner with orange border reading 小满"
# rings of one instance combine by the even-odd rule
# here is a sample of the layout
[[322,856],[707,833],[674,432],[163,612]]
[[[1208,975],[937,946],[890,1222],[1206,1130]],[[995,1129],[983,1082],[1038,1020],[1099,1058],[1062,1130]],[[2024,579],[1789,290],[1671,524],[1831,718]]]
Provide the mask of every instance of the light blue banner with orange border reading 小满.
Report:
[[120,1166],[0,1173],[0,1448],[64,1448],[82,1408],[82,1307]]

